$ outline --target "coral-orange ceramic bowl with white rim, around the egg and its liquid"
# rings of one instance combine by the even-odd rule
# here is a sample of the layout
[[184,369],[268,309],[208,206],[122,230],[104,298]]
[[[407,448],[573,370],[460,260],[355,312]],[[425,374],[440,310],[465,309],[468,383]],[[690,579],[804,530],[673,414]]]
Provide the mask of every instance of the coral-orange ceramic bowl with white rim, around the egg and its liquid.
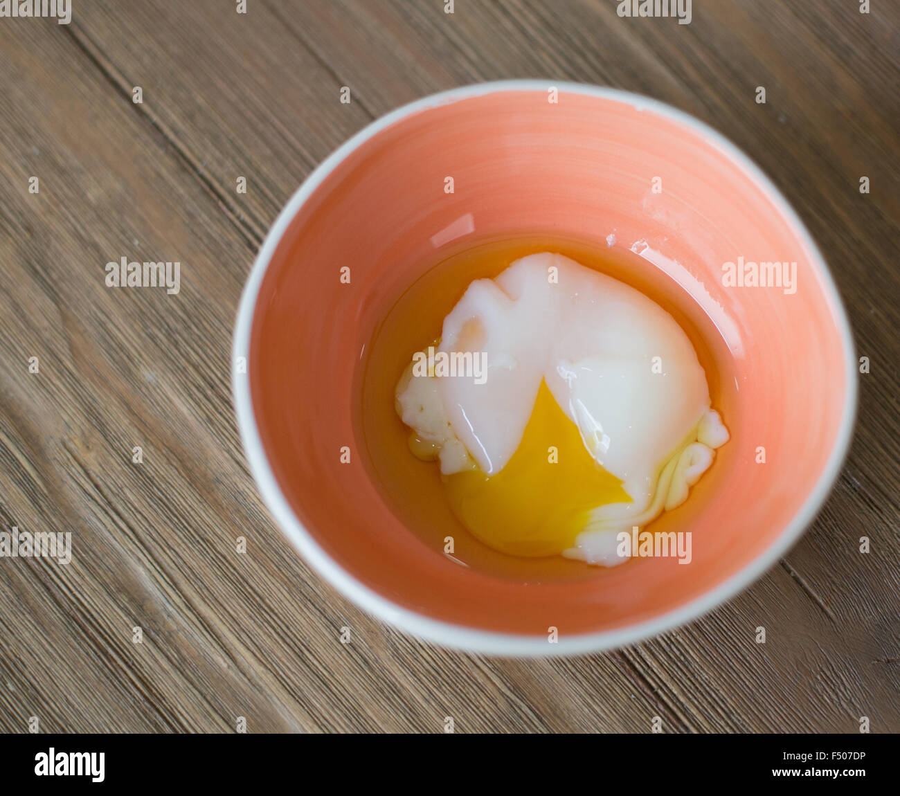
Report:
[[[374,478],[359,423],[374,330],[447,252],[536,233],[628,250],[627,281],[687,307],[720,363],[716,408],[731,440],[688,502],[653,524],[692,533],[687,567],[567,561],[576,569],[565,577],[558,562],[502,574],[462,567],[404,523],[397,496]],[[749,283],[751,264],[762,264],[763,284]],[[234,363],[247,459],[302,556],[386,622],[507,655],[632,642],[752,583],[822,505],[856,404],[840,298],[765,175],[662,103],[538,81],[419,100],[320,165],[260,250]]]

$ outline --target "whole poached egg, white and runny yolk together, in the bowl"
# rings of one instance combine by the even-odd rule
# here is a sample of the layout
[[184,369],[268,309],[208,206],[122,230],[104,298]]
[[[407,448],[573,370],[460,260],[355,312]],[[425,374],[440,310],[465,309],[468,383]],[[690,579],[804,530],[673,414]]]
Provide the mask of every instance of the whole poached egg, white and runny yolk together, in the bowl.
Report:
[[[453,355],[471,366],[433,366]],[[422,362],[396,391],[410,448],[439,460],[461,522],[513,555],[620,563],[618,532],[680,505],[728,439],[674,318],[563,255],[472,282]]]

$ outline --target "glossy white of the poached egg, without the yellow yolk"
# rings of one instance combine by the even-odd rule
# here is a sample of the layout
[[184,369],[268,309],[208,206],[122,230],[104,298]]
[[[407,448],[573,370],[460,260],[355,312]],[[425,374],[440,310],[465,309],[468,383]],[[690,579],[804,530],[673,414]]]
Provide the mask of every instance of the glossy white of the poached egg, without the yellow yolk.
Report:
[[688,496],[728,432],[688,335],[640,291],[563,255],[523,257],[470,284],[440,352],[479,352],[486,374],[404,373],[397,408],[449,475],[491,476],[516,452],[542,380],[590,456],[631,503],[599,505],[563,555],[613,566],[617,533]]

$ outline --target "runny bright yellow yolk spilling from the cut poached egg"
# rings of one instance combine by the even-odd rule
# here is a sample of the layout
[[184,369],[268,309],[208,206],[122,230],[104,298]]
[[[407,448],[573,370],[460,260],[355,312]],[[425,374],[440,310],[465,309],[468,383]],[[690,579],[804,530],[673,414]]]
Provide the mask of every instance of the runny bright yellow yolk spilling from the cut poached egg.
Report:
[[506,467],[493,476],[472,469],[444,479],[460,522],[480,541],[516,556],[559,555],[574,545],[591,511],[632,502],[622,481],[591,458],[543,380]]

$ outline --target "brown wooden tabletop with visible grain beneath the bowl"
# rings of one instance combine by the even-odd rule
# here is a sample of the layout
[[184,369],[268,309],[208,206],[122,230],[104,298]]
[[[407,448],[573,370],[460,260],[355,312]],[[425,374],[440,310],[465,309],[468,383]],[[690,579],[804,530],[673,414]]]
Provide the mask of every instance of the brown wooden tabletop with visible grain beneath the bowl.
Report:
[[[689,25],[616,5],[0,19],[0,521],[73,543],[65,566],[0,559],[0,729],[900,730],[900,5],[697,0]],[[311,573],[247,471],[229,345],[266,228],[323,157],[420,95],[529,76],[650,94],[734,140],[822,247],[870,364],[833,496],[758,584],[634,647],[522,661],[407,638]],[[107,287],[122,256],[179,261],[179,294]]]

